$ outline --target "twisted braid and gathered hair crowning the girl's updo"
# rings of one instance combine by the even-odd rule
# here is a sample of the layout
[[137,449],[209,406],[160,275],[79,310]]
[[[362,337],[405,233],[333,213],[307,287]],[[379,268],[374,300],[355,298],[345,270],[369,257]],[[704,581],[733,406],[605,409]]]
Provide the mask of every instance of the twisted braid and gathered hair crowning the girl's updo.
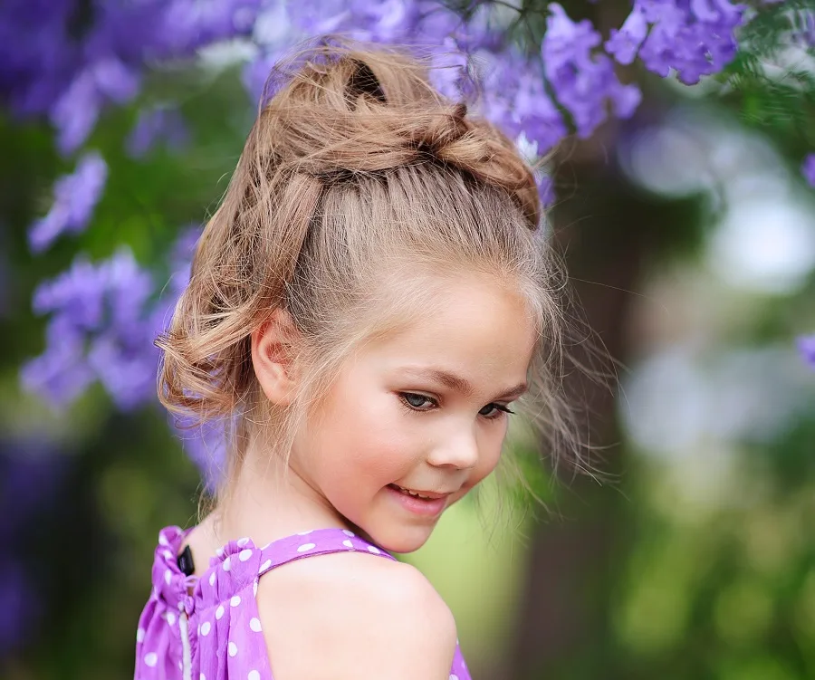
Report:
[[299,64],[256,124],[270,166],[330,180],[438,162],[505,192],[537,228],[535,179],[513,142],[464,102],[444,100],[417,62],[377,56],[342,53],[330,69],[322,60]]

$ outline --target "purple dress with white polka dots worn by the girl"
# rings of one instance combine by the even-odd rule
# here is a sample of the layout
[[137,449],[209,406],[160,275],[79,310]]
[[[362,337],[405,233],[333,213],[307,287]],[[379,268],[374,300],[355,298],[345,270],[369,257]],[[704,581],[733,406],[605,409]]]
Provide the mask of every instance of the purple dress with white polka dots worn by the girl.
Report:
[[[262,549],[249,539],[231,541],[198,578],[177,564],[188,531],[158,534],[153,589],[136,632],[135,680],[273,680],[255,600],[264,573],[331,552],[394,559],[350,531],[318,529]],[[449,680],[470,680],[457,645]]]

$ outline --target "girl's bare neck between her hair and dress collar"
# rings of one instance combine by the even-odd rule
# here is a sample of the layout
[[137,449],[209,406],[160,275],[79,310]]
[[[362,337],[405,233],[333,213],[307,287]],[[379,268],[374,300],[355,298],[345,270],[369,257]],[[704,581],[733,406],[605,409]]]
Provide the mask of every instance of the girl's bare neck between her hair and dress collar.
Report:
[[244,536],[265,545],[292,533],[350,526],[282,456],[251,446],[212,520],[221,545]]

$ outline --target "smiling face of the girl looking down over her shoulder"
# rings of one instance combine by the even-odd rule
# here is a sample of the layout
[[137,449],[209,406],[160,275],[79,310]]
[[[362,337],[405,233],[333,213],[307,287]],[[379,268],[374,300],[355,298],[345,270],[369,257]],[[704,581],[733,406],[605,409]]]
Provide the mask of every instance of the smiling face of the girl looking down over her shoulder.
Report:
[[427,318],[350,359],[290,460],[389,551],[421,547],[494,470],[536,340],[523,300],[494,281],[463,279],[440,294]]

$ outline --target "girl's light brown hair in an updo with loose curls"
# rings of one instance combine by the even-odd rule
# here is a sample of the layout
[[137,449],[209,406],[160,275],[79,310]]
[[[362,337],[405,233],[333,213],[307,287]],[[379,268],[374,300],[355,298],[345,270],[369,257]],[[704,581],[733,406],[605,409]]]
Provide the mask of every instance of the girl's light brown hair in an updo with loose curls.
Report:
[[[585,469],[561,389],[561,269],[513,142],[439,94],[424,62],[396,48],[323,41],[270,82],[276,92],[157,340],[161,402],[230,426],[225,481],[254,437],[286,455],[354,350],[432,313],[440,286],[462,273],[490,275],[528,302],[540,336],[520,406],[545,453],[565,451]],[[264,397],[251,358],[251,333],[276,309],[302,336],[286,408]]]

